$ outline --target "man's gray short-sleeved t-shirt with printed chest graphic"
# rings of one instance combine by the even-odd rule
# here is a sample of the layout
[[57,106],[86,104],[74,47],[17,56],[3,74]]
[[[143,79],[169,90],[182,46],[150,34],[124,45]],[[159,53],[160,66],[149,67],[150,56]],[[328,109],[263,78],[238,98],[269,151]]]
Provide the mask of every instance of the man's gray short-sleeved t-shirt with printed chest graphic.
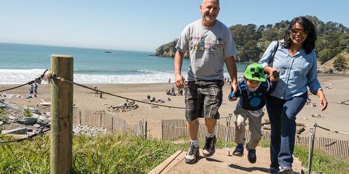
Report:
[[188,81],[224,80],[224,58],[237,55],[235,42],[227,26],[217,20],[212,27],[205,27],[200,20],[183,29],[177,50],[189,50]]

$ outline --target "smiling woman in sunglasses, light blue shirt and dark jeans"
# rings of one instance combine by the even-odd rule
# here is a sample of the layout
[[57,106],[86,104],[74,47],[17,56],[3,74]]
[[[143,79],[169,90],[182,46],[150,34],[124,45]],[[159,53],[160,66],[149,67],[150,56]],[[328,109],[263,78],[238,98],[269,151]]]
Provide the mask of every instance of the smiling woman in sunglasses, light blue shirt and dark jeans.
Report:
[[294,18],[285,32],[284,39],[276,49],[272,67],[272,54],[276,42],[266,49],[259,63],[271,81],[276,81],[273,72],[279,72],[279,82],[266,96],[266,108],[270,119],[270,170],[292,173],[296,115],[307,101],[307,87],[320,98],[321,111],[327,101],[318,81],[317,57],[314,51],[315,27],[303,16]]

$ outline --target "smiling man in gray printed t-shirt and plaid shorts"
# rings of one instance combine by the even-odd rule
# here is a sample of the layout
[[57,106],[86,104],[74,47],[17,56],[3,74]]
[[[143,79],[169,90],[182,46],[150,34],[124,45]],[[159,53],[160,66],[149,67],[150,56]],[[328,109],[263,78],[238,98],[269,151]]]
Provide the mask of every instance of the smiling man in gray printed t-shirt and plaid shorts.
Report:
[[[177,42],[174,56],[174,83],[176,87],[185,87],[185,118],[190,136],[190,149],[185,162],[196,162],[199,155],[198,117],[205,117],[207,136],[203,156],[215,153],[216,136],[214,129],[220,118],[218,108],[222,104],[224,85],[223,66],[233,79],[233,88],[237,89],[235,57],[237,49],[229,28],[217,20],[220,11],[218,0],[203,0],[200,5],[202,18],[190,23],[183,29]],[[188,82],[181,74],[183,55],[189,51],[190,67]]]

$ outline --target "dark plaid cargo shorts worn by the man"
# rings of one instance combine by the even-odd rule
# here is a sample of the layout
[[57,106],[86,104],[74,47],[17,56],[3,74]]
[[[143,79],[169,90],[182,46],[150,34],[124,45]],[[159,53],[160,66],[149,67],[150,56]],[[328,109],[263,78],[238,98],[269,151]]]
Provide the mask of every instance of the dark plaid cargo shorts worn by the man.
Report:
[[224,81],[189,81],[185,85],[185,118],[219,119],[218,108],[222,104]]

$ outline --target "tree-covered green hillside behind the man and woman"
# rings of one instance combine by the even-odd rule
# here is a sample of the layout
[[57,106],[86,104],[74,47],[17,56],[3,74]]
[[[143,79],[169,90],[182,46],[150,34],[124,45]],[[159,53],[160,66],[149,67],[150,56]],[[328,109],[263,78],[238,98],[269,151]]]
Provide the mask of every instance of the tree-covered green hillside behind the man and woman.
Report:
[[[326,22],[319,20],[316,16],[306,16],[313,21],[318,33],[315,52],[318,54],[318,61],[324,64],[342,52],[348,53],[349,29],[340,23]],[[282,20],[274,25],[232,25],[229,27],[237,50],[238,62],[255,62],[263,55],[264,50],[273,40],[282,40],[289,25],[289,20]],[[164,44],[155,50],[155,55],[174,57],[177,51],[174,46],[177,40]],[[346,58],[346,57],[344,57]]]

